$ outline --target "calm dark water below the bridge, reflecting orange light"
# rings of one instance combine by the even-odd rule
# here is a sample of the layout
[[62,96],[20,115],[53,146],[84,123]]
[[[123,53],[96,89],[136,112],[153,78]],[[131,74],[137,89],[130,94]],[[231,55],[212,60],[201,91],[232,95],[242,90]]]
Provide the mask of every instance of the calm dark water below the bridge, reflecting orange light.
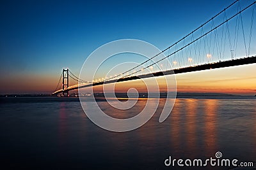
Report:
[[[0,167],[36,169],[171,169],[164,160],[223,158],[256,162],[255,99],[177,99],[159,123],[159,110],[139,129],[109,132],[94,125],[76,98],[1,98]],[[113,117],[106,101],[99,105]],[[156,100],[151,99],[154,103]],[[90,103],[90,101],[88,101]],[[195,169],[195,168],[194,168]],[[219,168],[216,168],[219,169]],[[228,169],[228,167],[223,168]]]

